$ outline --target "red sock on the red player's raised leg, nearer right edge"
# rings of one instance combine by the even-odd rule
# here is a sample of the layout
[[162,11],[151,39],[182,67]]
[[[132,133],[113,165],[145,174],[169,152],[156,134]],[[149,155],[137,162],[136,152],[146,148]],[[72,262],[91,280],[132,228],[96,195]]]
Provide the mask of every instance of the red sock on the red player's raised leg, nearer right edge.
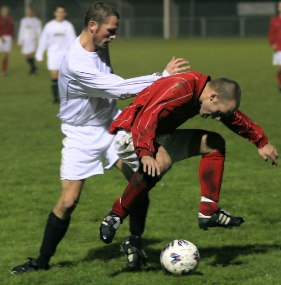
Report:
[[225,155],[219,151],[202,157],[199,167],[199,178],[201,183],[201,197],[204,196],[215,202],[200,202],[199,212],[203,215],[213,215],[219,210],[219,192],[222,182]]

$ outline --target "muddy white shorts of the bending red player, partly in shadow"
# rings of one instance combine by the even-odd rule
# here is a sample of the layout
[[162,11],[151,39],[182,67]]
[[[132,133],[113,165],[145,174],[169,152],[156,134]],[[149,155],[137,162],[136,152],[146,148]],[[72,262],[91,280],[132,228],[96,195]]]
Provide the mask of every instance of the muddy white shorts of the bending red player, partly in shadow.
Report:
[[[188,146],[193,133],[193,129],[177,129],[170,134],[156,135],[155,143],[164,147],[174,163],[189,158]],[[114,138],[114,146],[122,161],[136,172],[139,167],[139,161],[134,152],[132,133],[126,130],[119,130]]]

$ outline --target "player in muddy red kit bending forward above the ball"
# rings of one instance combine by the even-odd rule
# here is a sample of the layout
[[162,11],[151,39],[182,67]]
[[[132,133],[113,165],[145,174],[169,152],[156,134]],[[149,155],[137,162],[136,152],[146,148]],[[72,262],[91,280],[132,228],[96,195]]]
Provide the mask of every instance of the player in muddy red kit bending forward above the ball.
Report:
[[240,100],[237,82],[225,77],[212,81],[195,71],[158,79],[135,97],[110,126],[110,133],[116,134],[119,157],[135,174],[100,226],[103,242],[113,240],[130,209],[146,197],[174,162],[197,155],[202,155],[200,228],[231,228],[244,222],[217,205],[226,153],[224,139],[215,132],[177,129],[196,115],[210,117],[254,143],[263,159],[269,157],[277,165],[277,150],[268,144],[263,130],[238,110]]

